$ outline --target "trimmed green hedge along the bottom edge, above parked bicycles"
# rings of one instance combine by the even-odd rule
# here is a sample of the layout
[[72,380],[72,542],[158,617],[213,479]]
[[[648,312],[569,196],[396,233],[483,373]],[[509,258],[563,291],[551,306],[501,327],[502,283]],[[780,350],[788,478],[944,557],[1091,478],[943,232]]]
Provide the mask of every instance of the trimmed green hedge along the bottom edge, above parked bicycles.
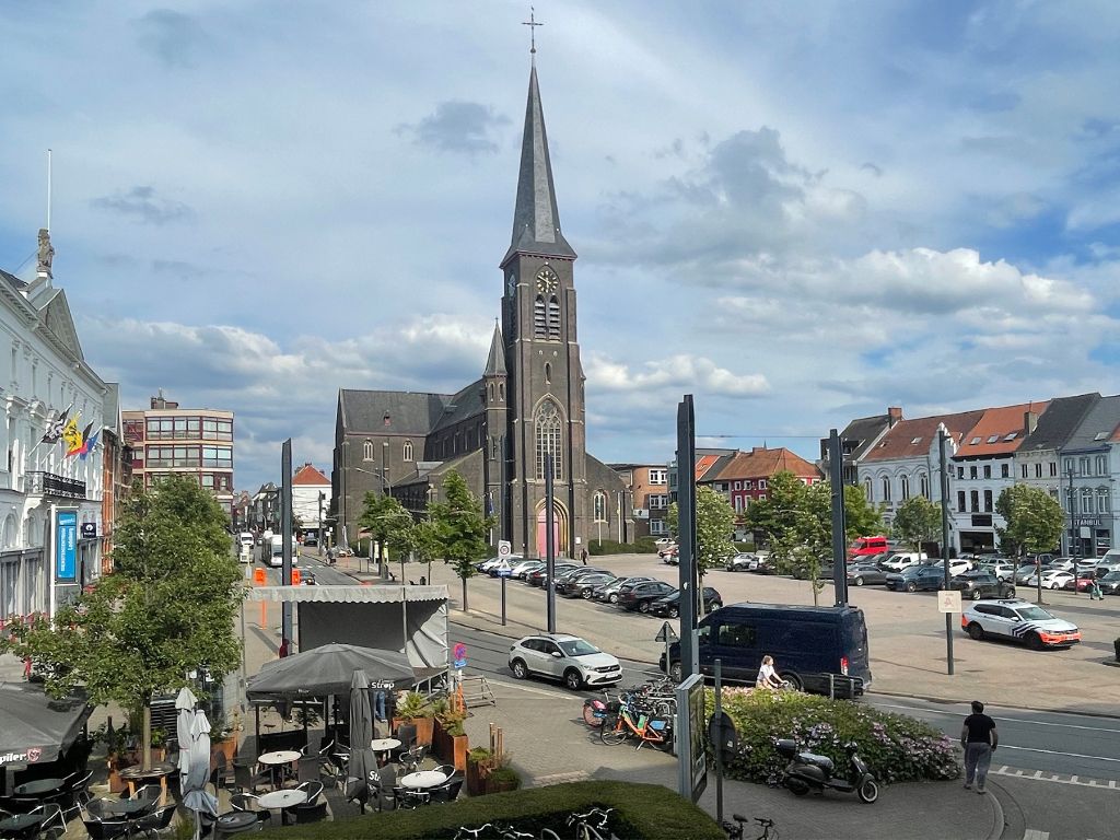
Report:
[[483,823],[512,824],[539,834],[550,828],[571,837],[568,815],[592,808],[613,808],[608,827],[623,840],[726,840],[708,814],[661,785],[628,782],[573,782],[526,791],[494,793],[416,811],[388,811],[352,820],[318,822],[258,834],[262,840],[307,838],[316,840],[445,840],[459,827]]

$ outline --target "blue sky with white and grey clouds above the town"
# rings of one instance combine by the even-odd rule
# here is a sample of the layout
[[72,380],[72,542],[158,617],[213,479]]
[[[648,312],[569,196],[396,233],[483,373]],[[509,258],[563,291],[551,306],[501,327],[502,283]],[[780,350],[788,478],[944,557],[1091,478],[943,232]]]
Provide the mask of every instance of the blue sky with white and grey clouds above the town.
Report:
[[[589,449],[1116,393],[1120,6],[538,0]],[[125,407],[329,467],[339,388],[454,391],[510,243],[528,3],[0,6],[0,267]]]

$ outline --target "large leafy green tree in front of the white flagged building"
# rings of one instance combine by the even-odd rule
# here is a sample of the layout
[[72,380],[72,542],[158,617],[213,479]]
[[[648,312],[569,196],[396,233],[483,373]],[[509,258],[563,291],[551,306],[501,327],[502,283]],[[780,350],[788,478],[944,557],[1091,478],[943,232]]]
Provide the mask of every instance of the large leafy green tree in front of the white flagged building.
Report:
[[190,685],[190,672],[221,680],[241,664],[234,619],[244,590],[227,522],[193,476],[150,489],[137,482],[113,531],[113,572],[54,622],[13,622],[0,652],[39,663],[53,697],[83,688],[95,704],[120,703],[142,718],[150,744],[153,696]]

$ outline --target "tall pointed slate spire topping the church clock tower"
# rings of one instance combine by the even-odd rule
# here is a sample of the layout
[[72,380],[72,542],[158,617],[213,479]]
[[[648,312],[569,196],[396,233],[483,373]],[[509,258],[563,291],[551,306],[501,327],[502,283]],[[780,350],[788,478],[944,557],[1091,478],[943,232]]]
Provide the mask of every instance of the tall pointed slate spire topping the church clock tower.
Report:
[[541,92],[536,87],[536,67],[529,73],[529,102],[525,105],[525,132],[521,140],[521,171],[517,176],[517,204],[513,211],[513,241],[503,264],[513,254],[576,259],[576,252],[560,232],[552,186],[549,141],[544,133]]

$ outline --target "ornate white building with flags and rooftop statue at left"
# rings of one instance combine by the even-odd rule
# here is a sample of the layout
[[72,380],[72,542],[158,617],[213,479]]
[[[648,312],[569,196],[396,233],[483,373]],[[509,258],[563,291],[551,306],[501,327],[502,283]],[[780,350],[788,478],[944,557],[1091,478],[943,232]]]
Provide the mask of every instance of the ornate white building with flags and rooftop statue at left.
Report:
[[[31,282],[0,270],[0,624],[53,613],[101,572],[108,386],[85,362],[53,254],[40,231]],[[84,458],[43,442],[63,412],[96,436]]]

